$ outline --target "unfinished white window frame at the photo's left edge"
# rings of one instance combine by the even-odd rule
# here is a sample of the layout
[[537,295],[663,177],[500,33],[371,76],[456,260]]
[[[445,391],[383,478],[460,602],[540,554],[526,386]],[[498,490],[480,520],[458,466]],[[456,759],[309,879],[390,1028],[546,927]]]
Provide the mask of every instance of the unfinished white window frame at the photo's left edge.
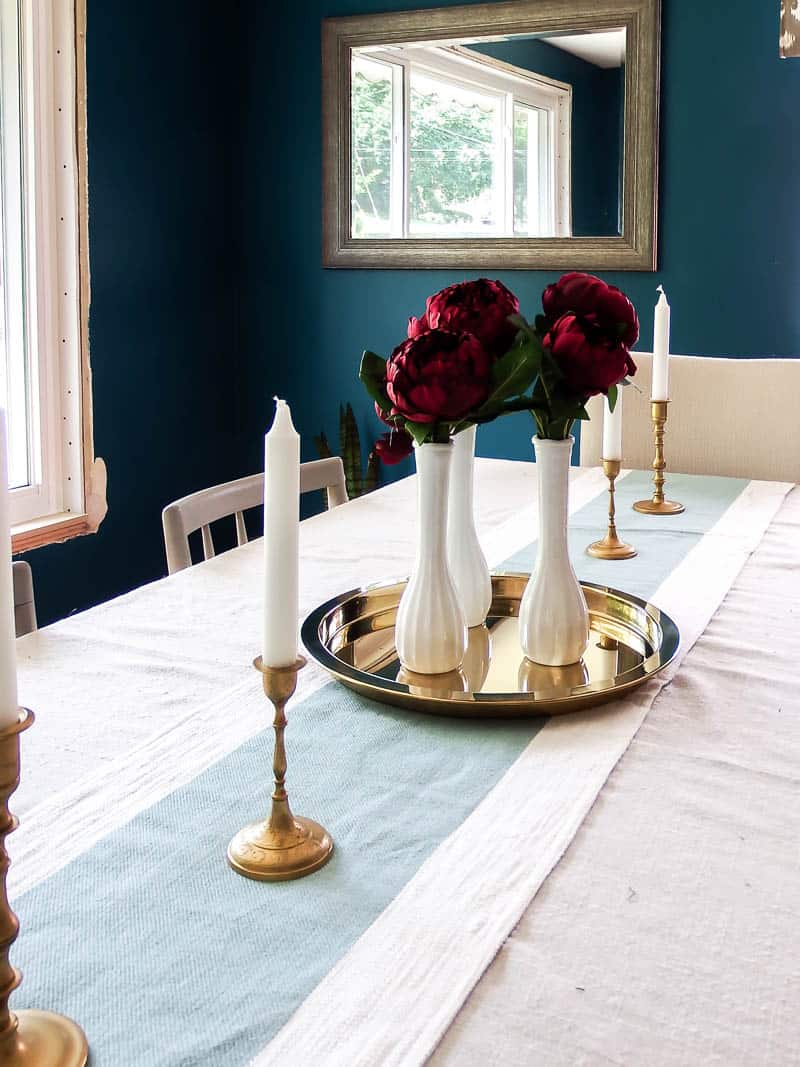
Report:
[[30,483],[11,492],[15,552],[94,530],[106,511],[87,351],[85,0],[0,0],[5,37],[17,9]]

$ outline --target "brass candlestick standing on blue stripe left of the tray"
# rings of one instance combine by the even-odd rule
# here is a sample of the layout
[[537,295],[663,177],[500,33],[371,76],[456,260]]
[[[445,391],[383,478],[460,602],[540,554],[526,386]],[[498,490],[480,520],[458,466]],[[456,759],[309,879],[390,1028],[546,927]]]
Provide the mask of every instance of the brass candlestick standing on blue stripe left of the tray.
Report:
[[228,845],[228,863],[245,878],[258,881],[289,881],[302,878],[327,863],[333,841],[327,830],[310,818],[292,815],[284,781],[286,779],[286,704],[298,685],[298,671],[305,667],[299,656],[291,667],[266,667],[258,656],[253,666],[261,672],[263,691],[275,708],[275,789],[272,810],[266,822],[251,823]]

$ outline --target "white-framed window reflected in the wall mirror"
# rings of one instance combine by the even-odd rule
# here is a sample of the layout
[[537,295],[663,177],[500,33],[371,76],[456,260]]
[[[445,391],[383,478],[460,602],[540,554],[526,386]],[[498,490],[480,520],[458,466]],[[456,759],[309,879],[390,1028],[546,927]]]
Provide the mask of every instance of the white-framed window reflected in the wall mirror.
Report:
[[353,237],[569,235],[569,85],[444,46],[351,74]]

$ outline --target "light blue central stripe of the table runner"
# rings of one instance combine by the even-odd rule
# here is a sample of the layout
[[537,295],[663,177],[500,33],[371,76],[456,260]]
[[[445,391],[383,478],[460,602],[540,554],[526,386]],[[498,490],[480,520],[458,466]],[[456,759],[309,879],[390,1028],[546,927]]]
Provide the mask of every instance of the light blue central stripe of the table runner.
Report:
[[[685,515],[635,515],[626,501],[650,484],[634,474],[618,494],[636,560],[583,556],[605,528],[603,496],[573,517],[581,577],[651,595],[747,483],[675,476]],[[331,863],[276,885],[227,869],[229,838],[268,810],[266,730],[15,901],[14,1005],[78,1019],[93,1067],[246,1064],[545,721],[426,717],[326,686],[290,707],[288,785],[294,810],[332,832]]]

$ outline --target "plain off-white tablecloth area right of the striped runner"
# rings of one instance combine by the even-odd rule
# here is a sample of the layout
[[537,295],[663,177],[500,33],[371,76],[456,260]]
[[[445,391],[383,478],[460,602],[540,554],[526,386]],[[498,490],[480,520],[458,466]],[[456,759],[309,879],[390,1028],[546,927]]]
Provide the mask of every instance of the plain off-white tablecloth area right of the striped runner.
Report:
[[800,1064],[800,490],[432,1058]]

